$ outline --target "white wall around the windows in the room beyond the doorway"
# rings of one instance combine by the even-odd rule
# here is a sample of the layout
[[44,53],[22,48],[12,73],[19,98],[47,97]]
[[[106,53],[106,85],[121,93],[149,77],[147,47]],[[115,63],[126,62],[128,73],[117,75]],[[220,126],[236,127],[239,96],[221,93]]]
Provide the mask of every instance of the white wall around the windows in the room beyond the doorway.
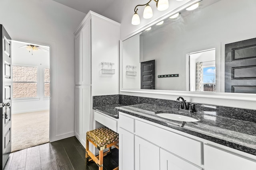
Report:
[[[50,67],[50,51],[28,51],[19,48],[29,43],[12,41],[12,65],[36,66],[38,68],[38,97],[33,99],[12,99],[12,114],[50,109],[50,98],[44,97],[44,68]],[[44,47],[49,50],[49,47]]]

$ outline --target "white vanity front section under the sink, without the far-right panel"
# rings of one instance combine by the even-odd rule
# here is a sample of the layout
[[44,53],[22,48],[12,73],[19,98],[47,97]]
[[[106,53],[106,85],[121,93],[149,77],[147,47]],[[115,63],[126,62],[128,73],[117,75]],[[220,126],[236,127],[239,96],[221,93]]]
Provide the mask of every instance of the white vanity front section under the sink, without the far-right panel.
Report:
[[[182,163],[176,166],[180,170],[202,170],[202,142],[153,124],[119,112],[120,170],[178,170],[174,168],[176,162]],[[129,168],[124,165],[128,165]]]

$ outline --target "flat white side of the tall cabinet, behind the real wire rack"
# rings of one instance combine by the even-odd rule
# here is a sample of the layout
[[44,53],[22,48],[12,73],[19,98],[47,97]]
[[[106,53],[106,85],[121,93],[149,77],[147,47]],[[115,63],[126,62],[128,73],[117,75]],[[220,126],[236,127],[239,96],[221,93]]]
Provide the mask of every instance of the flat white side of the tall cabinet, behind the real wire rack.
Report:
[[[92,16],[92,96],[119,93],[120,24]],[[114,63],[115,74],[102,74],[102,62]],[[104,66],[103,68],[109,68]]]

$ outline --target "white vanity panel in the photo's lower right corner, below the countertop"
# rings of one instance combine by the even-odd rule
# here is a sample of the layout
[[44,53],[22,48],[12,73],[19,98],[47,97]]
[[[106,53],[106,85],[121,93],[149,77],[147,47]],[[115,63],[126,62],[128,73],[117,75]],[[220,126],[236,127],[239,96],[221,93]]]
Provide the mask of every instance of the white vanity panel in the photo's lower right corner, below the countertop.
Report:
[[204,145],[205,170],[256,170],[256,160]]

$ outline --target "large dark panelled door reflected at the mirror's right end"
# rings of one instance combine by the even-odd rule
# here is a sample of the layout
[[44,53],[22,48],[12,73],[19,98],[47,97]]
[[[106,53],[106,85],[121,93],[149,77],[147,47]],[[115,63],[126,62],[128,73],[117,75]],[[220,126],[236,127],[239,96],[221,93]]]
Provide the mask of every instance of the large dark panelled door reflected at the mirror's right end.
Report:
[[225,45],[225,92],[256,93],[256,38]]

